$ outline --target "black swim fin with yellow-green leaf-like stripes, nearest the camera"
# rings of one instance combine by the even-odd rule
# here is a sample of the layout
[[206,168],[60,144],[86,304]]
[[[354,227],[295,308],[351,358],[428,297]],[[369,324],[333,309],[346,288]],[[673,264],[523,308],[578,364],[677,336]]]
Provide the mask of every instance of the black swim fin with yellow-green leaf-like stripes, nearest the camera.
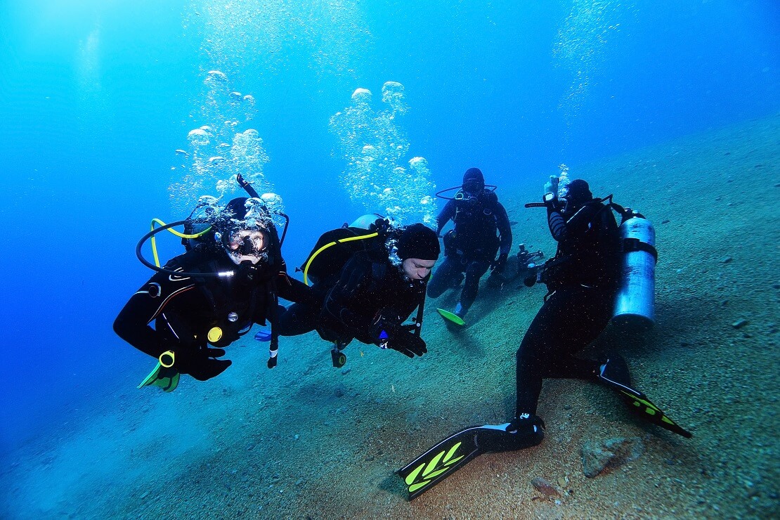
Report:
[[534,419],[524,416],[521,420],[526,421],[522,428],[513,426],[516,424],[514,421],[470,426],[441,440],[399,469],[397,473],[406,483],[409,500],[419,497],[477,455],[490,451],[516,451],[539,444],[544,438],[544,423],[536,416]]

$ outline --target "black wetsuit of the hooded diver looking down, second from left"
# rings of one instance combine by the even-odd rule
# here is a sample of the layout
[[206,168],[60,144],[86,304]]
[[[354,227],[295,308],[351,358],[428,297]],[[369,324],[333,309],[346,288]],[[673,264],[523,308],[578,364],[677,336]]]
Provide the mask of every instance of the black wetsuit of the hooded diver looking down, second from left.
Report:
[[320,305],[295,303],[282,313],[279,334],[316,329],[321,338],[340,345],[353,338],[378,345],[380,322],[397,334],[405,332],[397,326],[423,301],[425,285],[426,280],[407,279],[400,266],[390,263],[384,247],[356,252],[337,277],[311,288]]

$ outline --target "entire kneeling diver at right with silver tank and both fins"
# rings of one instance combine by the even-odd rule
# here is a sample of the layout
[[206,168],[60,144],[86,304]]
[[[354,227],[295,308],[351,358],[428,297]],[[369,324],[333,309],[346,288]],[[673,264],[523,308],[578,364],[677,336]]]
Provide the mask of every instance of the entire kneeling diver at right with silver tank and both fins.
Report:
[[[560,199],[551,191],[545,193],[544,203],[526,206],[547,208],[548,226],[558,249],[540,274],[548,287],[544,305],[517,351],[516,415],[509,423],[472,426],[455,433],[399,469],[410,499],[477,455],[540,444],[545,426],[537,416],[537,404],[542,381],[551,377],[602,384],[616,391],[629,409],[648,422],[691,437],[691,433],[669,419],[647,395],[631,386],[628,366],[621,356],[611,354],[599,361],[576,357],[613,317],[626,319],[633,313],[638,318],[644,313],[643,320],[652,319],[651,313],[643,310],[647,302],[640,300],[653,297],[652,277],[657,258],[654,232],[632,236],[637,229],[651,230],[649,221],[629,208],[612,203],[612,196],[594,199],[587,182],[581,179],[570,182]],[[613,209],[622,214],[620,227]],[[637,258],[649,259],[646,266],[652,268],[628,268]],[[649,278],[642,278],[645,283],[636,283],[631,277]],[[630,312],[620,303],[622,299],[633,301]]]

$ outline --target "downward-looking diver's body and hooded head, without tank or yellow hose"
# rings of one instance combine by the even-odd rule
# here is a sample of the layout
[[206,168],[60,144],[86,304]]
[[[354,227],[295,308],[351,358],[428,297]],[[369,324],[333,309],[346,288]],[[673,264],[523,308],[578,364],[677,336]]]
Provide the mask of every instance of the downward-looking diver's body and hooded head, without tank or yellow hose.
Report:
[[320,305],[299,302],[282,313],[279,334],[316,329],[339,350],[355,338],[409,357],[422,356],[427,352],[425,341],[402,323],[423,304],[439,252],[436,233],[422,224],[406,226],[387,242],[357,250],[335,276],[311,288]]

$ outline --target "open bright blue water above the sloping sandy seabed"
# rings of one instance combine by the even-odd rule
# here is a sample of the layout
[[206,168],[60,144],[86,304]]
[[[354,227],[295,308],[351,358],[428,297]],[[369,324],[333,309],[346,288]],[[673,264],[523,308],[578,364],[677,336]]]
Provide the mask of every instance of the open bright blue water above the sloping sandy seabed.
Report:
[[773,0],[299,3],[0,3],[2,451],[148,369],[111,325],[150,275],[133,254],[150,219],[186,216],[174,150],[204,124],[211,69],[256,99],[243,128],[293,219],[291,265],[363,213],[328,128],[358,87],[380,104],[402,83],[406,159],[440,189],[471,166],[541,187],[561,163],[780,108]]

